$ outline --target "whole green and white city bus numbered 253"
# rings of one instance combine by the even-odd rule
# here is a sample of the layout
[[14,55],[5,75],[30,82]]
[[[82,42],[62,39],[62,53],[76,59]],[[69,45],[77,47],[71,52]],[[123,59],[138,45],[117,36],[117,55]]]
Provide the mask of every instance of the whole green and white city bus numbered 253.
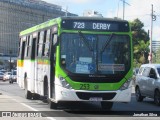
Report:
[[20,32],[17,83],[26,99],[60,102],[131,100],[133,51],[129,22],[59,17]]

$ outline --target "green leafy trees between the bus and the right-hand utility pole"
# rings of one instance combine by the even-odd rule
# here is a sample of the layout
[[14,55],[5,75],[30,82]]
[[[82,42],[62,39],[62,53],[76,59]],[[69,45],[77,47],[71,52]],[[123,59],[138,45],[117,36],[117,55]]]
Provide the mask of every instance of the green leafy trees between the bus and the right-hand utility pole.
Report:
[[144,24],[137,18],[131,23],[133,51],[134,51],[134,67],[148,62],[149,53],[149,35],[143,29]]

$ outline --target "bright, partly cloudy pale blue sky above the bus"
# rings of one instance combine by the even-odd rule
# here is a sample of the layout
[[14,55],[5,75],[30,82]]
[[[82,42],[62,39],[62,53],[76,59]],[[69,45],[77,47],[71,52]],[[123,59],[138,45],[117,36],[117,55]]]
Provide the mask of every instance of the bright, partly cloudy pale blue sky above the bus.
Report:
[[[95,10],[103,17],[123,19],[123,0],[43,0],[62,6],[62,9],[83,16],[85,10]],[[160,41],[160,0],[125,0],[125,20],[138,18],[146,31],[151,30],[151,9],[153,4],[156,21],[153,22],[153,40]]]

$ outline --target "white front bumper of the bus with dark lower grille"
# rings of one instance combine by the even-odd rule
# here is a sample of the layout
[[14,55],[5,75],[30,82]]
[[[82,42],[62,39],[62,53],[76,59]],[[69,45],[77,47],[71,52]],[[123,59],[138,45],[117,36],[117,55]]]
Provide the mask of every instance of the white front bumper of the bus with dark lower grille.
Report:
[[[66,89],[55,85],[56,96],[54,102],[59,101],[110,101],[110,102],[130,102],[132,86],[125,90],[117,91],[87,91]],[[52,99],[51,99],[52,100]]]

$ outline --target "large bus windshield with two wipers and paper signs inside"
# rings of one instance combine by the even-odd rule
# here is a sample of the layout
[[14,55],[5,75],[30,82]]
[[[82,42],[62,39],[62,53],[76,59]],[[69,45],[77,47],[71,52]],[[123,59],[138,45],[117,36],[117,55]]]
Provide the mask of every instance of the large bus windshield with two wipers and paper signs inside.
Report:
[[61,66],[74,74],[125,74],[131,67],[130,42],[128,35],[63,33]]

